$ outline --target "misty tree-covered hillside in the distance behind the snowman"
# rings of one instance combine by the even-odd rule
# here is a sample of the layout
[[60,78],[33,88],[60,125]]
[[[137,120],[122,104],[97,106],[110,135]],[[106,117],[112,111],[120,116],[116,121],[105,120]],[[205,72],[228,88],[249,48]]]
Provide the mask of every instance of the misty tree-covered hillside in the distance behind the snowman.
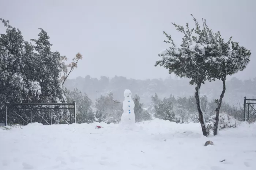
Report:
[[[115,76],[112,79],[101,76],[98,80],[91,78],[89,75],[85,78],[78,77],[76,79],[68,79],[65,87],[69,90],[78,90],[86,92],[86,94],[95,101],[100,95],[113,92],[114,98],[123,101],[123,92],[125,89],[132,91],[133,95],[139,94],[141,101],[147,106],[151,103],[151,96],[155,93],[160,98],[168,97],[173,94],[175,97],[194,95],[195,87],[189,85],[188,79],[147,79],[135,80],[127,79],[123,76]],[[232,78],[226,81],[226,93],[224,101],[227,103],[243,103],[244,96],[247,98],[256,98],[256,78],[253,80],[239,80]],[[98,91],[98,92],[97,92]],[[207,95],[208,99],[217,99],[222,91],[222,82],[206,82],[201,88],[200,95]]]

